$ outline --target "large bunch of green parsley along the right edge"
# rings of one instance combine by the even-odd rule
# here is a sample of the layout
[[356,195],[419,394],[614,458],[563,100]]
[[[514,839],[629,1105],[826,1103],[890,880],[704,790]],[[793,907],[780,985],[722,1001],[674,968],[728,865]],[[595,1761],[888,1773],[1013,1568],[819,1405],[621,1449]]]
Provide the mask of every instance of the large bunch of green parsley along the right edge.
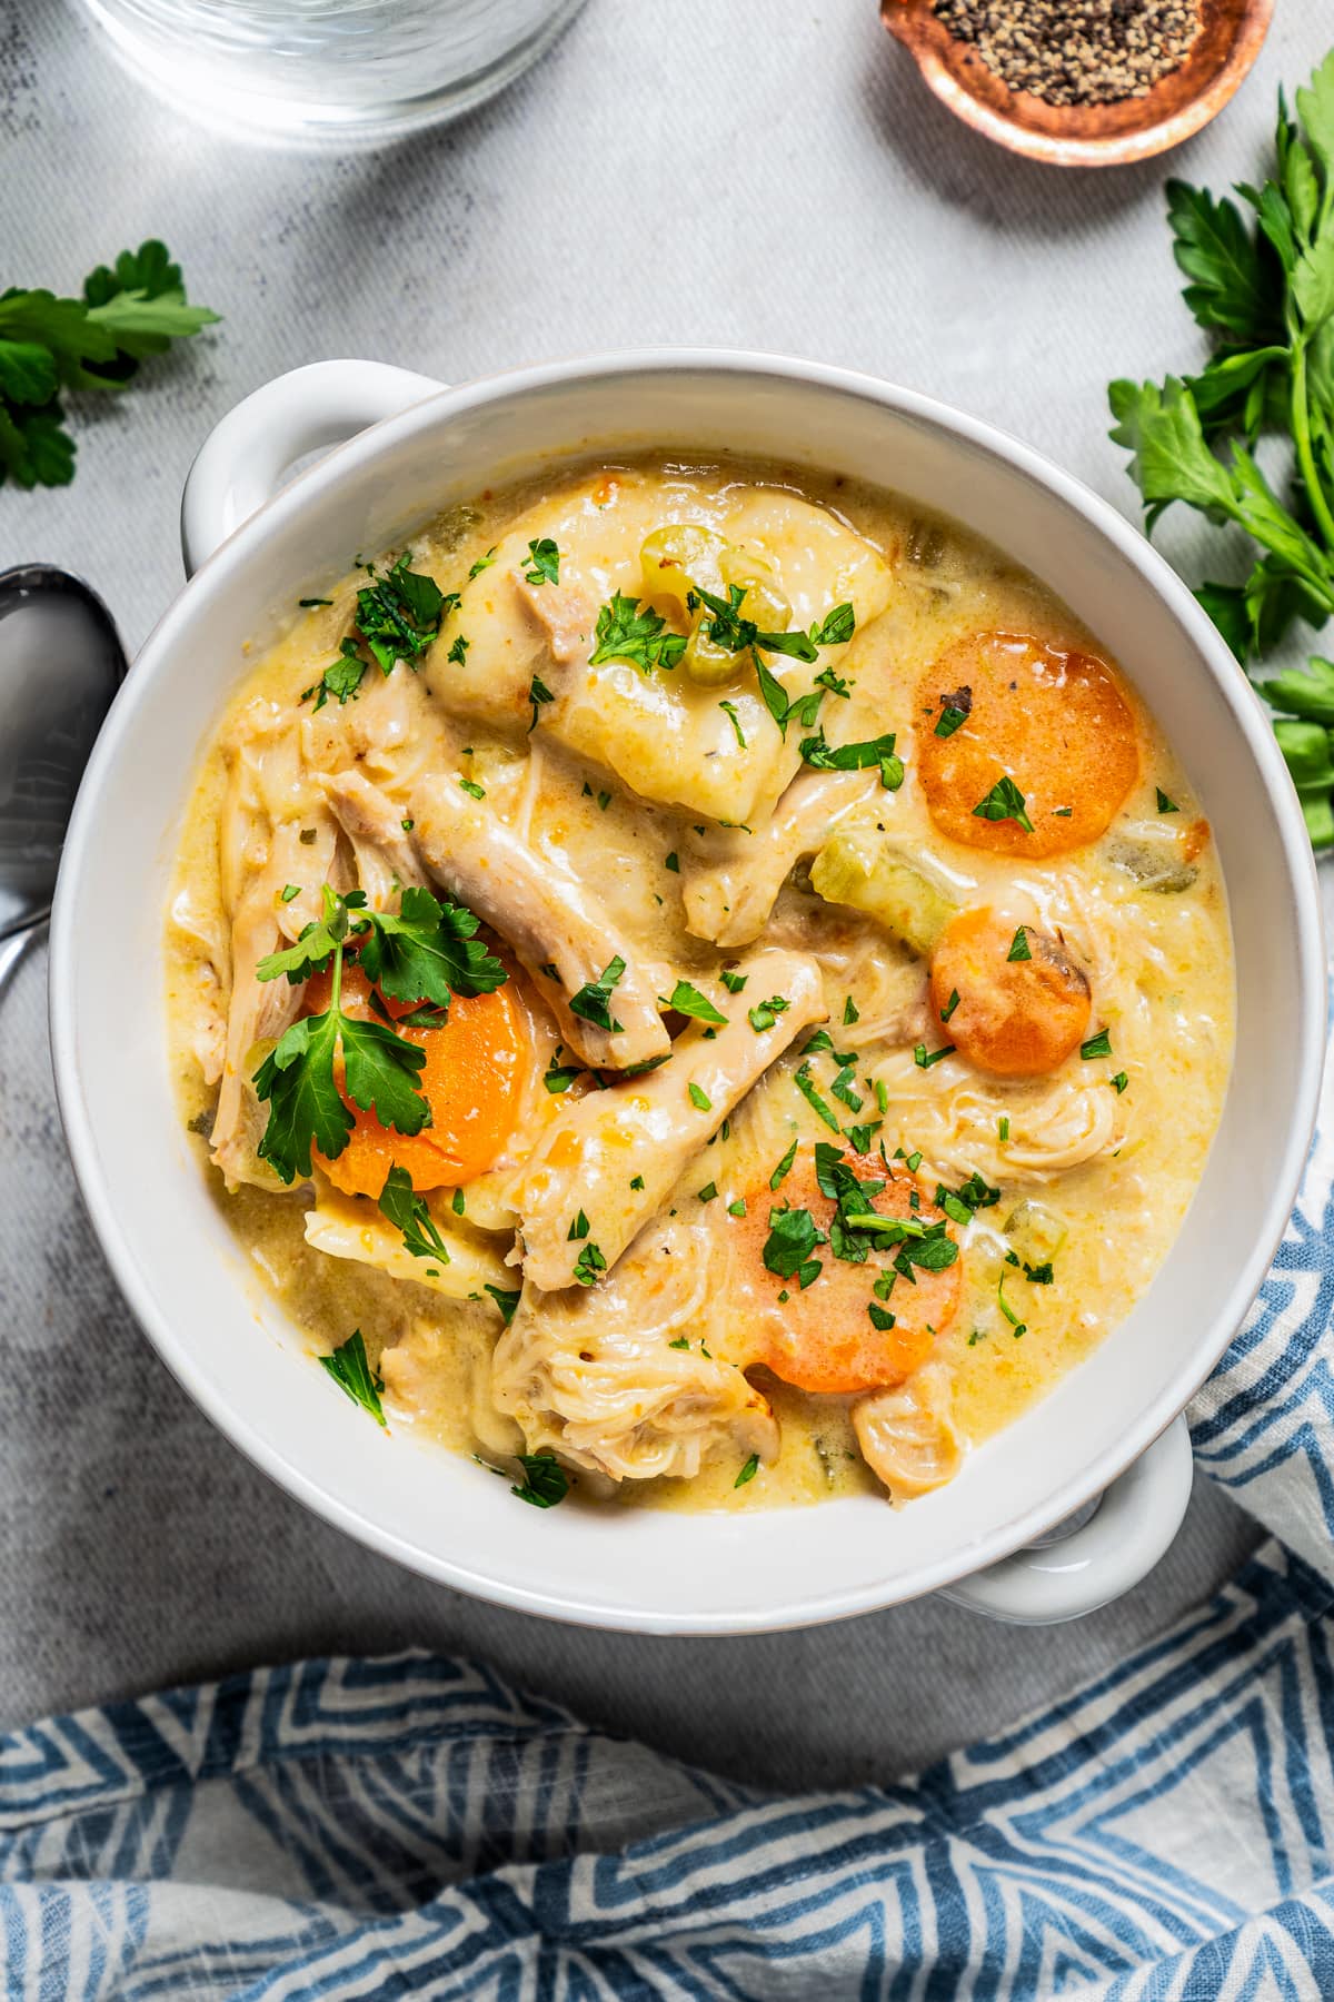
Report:
[[[1242,208],[1168,182],[1182,296],[1214,340],[1206,366],[1108,388],[1112,438],[1132,452],[1150,533],[1180,500],[1256,545],[1244,583],[1196,591],[1242,663],[1272,653],[1298,621],[1322,627],[1334,611],[1334,50],[1298,90],[1296,110],[1294,120],[1280,92],[1274,170],[1260,188],[1236,186]],[[1266,432],[1292,448],[1286,492],[1256,460]],[[1320,849],[1334,847],[1334,673],[1310,665],[1310,677],[1284,673],[1260,693],[1296,719],[1276,735]]]

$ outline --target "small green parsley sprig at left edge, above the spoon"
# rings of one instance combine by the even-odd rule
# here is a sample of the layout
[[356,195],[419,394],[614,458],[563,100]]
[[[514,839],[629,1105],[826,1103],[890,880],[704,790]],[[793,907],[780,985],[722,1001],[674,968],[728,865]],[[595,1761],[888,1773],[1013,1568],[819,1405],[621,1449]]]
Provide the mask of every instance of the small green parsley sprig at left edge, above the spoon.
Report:
[[0,484],[68,486],[62,390],[120,390],[140,362],[216,320],[186,302],[180,264],[156,238],[88,272],[82,298],[10,286],[0,294]]

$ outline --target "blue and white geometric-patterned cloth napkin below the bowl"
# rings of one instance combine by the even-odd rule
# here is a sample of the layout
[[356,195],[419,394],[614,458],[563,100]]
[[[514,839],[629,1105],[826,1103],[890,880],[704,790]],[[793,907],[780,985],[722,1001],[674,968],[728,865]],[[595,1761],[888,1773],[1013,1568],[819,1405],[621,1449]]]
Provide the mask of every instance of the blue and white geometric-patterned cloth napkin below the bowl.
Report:
[[1334,1996],[1334,1099],[1200,1463],[1212,1604],[892,1788],[768,1798],[468,1662],[256,1670],[0,1738],[40,2002]]

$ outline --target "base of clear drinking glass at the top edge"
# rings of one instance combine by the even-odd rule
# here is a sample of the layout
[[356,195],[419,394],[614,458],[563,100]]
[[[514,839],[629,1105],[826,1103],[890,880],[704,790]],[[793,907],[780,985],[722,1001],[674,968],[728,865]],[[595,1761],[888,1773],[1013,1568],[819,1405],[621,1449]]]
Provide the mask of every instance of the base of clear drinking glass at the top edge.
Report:
[[274,140],[378,142],[472,110],[584,0],[84,0],[172,104]]

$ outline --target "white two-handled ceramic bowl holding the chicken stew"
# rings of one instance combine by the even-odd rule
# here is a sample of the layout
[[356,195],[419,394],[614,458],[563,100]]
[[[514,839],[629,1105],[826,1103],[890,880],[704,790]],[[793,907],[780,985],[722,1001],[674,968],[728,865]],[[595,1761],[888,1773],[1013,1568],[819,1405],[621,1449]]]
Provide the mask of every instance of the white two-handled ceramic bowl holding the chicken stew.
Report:
[[[376,418],[270,498],[302,454]],[[356,551],[382,549],[536,462],[638,444],[834,468],[996,541],[1144,691],[1222,855],[1236,1071],[1182,1233],[1096,1355],[974,1451],[952,1485],[902,1512],[860,1497],[742,1518],[538,1514],[466,1457],[418,1447],[402,1429],[382,1435],[250,1281],[172,1105],[162,1011],[172,849],[204,739],[258,649]],[[52,927],[52,1043],[70,1151],[116,1277],[216,1423],[376,1550],[566,1620],[744,1632],[938,1588],[1042,1620],[1132,1584],[1180,1522],[1190,1461],[1184,1425],[1172,1421],[1240,1325],[1282,1235],[1324,1049],[1316,873],[1288,775],[1226,647],[1142,537],[974,418],[834,368],[710,352],[562,362],[450,390],[370,362],[296,370],[218,426],[190,476],[184,527],[196,575],[130,671],[70,827]],[[1070,1542],[976,1576],[1108,1487]]]

